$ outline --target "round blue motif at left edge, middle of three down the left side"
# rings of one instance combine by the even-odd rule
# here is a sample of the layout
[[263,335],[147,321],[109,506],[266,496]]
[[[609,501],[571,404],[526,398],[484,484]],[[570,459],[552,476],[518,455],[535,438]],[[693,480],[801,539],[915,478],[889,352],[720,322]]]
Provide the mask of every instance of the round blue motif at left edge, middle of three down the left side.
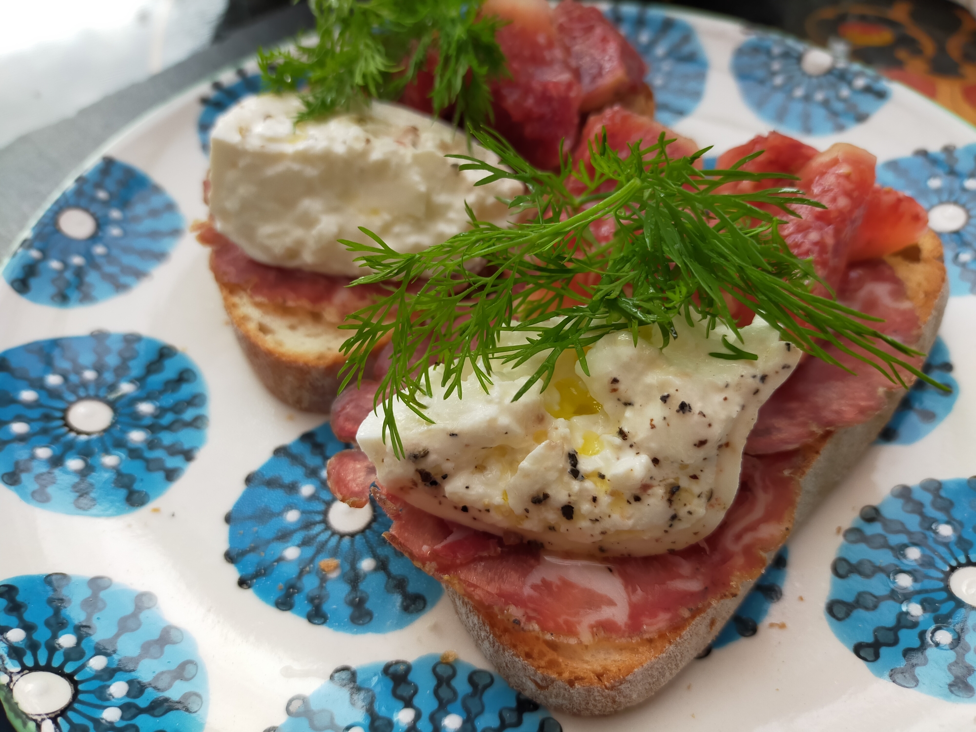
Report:
[[0,353],[0,483],[31,506],[141,508],[183,475],[207,425],[203,376],[155,339],[96,331]]

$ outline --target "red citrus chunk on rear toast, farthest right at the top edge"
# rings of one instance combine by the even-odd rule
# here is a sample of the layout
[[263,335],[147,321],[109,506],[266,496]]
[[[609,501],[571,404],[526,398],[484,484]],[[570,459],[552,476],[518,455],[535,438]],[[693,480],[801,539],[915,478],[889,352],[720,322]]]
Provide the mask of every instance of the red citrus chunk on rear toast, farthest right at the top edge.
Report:
[[647,64],[597,8],[562,0],[552,11],[552,23],[580,72],[580,111],[606,106],[640,88]]

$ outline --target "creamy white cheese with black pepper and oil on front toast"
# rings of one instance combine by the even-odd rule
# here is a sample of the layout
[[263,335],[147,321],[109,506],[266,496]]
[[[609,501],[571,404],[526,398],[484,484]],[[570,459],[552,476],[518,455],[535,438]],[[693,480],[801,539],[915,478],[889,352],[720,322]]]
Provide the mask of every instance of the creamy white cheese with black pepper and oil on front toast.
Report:
[[587,353],[590,376],[563,353],[546,391],[516,402],[538,360],[496,369],[487,393],[473,376],[462,398],[435,387],[433,424],[397,403],[404,460],[377,414],[356,439],[386,490],[429,513],[577,554],[681,549],[731,505],[758,409],[800,353],[759,318],[742,329],[754,361],[709,355],[725,350],[723,335],[734,340],[725,328],[707,339],[704,325],[674,327],[664,348],[653,328],[636,346],[629,333],[602,338]]

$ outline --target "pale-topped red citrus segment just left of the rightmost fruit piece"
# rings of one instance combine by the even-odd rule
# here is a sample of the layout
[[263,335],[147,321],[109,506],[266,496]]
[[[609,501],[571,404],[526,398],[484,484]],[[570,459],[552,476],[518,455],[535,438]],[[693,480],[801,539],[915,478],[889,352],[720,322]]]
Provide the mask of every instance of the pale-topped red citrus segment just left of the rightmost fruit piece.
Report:
[[[802,219],[780,227],[790,251],[812,259],[817,273],[833,288],[840,283],[851,242],[857,234],[874,188],[876,158],[867,150],[837,142],[810,158],[799,170],[797,187],[827,206],[795,207]],[[818,294],[826,294],[818,287]]]

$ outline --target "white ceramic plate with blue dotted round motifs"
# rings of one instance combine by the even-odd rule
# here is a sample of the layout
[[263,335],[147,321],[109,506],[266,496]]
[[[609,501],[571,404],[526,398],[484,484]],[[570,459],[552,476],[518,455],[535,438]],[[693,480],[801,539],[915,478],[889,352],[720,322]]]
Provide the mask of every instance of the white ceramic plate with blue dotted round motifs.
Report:
[[[661,119],[877,155],[942,235],[952,299],[891,424],[711,652],[603,719],[550,715],[475,649],[376,507],[336,503],[321,415],[258,383],[187,233],[230,69],[54,191],[0,280],[0,701],[19,730],[976,728],[976,131],[789,37],[607,8]],[[967,602],[967,600],[969,602]],[[555,601],[555,598],[553,598]],[[392,663],[395,662],[395,663]]]

